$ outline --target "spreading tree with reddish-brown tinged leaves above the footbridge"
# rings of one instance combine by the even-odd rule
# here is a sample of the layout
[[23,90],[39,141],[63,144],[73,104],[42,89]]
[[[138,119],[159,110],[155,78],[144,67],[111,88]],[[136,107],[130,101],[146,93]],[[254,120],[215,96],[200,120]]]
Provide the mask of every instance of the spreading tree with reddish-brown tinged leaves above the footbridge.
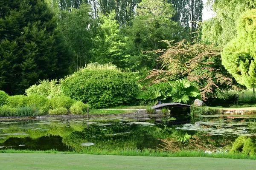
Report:
[[202,99],[214,98],[218,93],[237,88],[235,80],[221,65],[221,49],[202,43],[191,45],[181,41],[171,45],[158,59],[161,70],[151,70],[146,79],[153,83],[187,78]]

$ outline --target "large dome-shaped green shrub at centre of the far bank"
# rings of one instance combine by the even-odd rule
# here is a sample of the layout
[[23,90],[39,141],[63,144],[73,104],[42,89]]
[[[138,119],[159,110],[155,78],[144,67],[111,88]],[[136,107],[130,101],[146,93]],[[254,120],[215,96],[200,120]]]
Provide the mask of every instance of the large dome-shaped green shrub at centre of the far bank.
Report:
[[61,90],[95,108],[131,104],[138,90],[136,74],[113,66],[88,66],[66,77]]

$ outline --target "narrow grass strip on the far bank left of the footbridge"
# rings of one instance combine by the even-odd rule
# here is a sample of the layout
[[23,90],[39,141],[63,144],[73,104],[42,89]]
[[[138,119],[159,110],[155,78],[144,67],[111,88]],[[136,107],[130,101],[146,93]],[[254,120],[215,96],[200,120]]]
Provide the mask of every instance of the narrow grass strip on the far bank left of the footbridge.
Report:
[[114,115],[114,114],[129,114],[137,110],[108,110],[108,109],[90,109],[89,115]]

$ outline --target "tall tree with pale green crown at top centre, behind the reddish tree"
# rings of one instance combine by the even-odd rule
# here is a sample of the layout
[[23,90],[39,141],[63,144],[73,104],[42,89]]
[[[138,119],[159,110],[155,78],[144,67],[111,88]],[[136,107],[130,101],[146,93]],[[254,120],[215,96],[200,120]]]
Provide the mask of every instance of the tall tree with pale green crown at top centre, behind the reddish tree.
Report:
[[136,13],[129,30],[128,53],[132,55],[131,65],[155,68],[157,55],[144,55],[141,51],[166,48],[166,44],[160,40],[180,40],[182,28],[172,20],[175,8],[166,0],[142,0]]

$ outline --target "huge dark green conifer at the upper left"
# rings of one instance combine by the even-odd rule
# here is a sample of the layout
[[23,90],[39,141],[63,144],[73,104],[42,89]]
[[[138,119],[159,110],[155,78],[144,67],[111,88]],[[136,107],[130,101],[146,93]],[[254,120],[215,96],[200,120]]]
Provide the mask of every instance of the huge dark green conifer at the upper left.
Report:
[[43,0],[0,1],[0,89],[23,94],[69,73],[72,54]]

